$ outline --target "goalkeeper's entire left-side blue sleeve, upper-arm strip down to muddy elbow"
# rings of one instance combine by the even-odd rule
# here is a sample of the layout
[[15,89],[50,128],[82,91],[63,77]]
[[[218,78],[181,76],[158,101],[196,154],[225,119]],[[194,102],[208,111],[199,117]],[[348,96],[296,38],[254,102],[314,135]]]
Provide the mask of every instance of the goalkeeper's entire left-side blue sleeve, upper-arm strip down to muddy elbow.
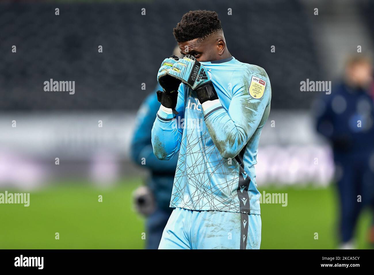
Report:
[[181,121],[184,117],[184,84],[178,89],[178,115],[162,105],[157,111],[152,127],[152,146],[154,155],[161,160],[171,159],[180,149],[182,132]]

